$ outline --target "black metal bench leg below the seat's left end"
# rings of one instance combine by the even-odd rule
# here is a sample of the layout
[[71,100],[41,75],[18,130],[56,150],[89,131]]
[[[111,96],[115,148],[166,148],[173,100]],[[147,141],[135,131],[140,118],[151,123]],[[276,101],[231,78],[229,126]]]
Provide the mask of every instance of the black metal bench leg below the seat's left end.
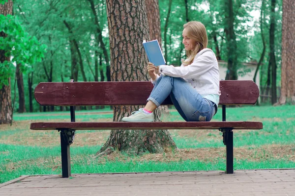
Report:
[[70,145],[60,132],[60,147],[61,147],[61,171],[62,177],[71,176],[71,154]]

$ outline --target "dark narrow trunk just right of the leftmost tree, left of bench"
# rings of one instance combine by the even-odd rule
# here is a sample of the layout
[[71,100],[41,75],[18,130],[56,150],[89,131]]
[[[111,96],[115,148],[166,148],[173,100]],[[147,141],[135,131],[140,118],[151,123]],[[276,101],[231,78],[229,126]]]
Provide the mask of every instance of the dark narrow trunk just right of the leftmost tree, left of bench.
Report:
[[16,64],[16,81],[17,81],[17,88],[19,92],[19,113],[26,112],[26,105],[25,105],[25,91],[24,91],[24,78],[23,73],[20,71],[21,64]]

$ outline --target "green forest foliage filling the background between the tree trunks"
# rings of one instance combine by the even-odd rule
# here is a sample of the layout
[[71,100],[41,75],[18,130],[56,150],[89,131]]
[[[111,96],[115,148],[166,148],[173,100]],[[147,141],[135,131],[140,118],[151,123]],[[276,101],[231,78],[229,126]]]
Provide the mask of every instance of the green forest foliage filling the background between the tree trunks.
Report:
[[[3,0],[2,0],[3,1]],[[187,0],[188,19],[190,21],[200,21],[207,28],[208,48],[212,49],[215,54],[217,47],[220,51],[221,60],[228,60],[228,47],[226,40],[225,22],[226,0]],[[266,38],[266,55],[261,66],[260,77],[262,78],[260,86],[266,85],[268,52],[269,52],[269,16],[270,16],[270,0],[265,0],[265,6],[261,7],[261,0],[236,0],[234,2],[235,13],[235,33],[237,42],[237,61],[238,74],[244,75],[249,72],[243,66],[243,63],[258,62],[262,53],[262,39],[260,32],[259,17],[253,17],[252,13],[257,11],[259,14],[261,9],[264,13],[263,29]],[[162,48],[164,51],[164,27],[167,18],[169,0],[159,0],[161,32],[162,32]],[[94,0],[95,11],[98,18],[99,26],[102,30],[103,42],[109,55],[109,34],[108,21],[105,0]],[[83,62],[83,70],[87,81],[94,81],[95,61],[101,62],[98,69],[98,80],[102,77],[99,70],[103,71],[106,80],[106,61],[102,54],[100,43],[96,38],[98,33],[94,15],[92,13],[89,0],[14,0],[13,12],[17,16],[19,23],[26,29],[30,37],[35,37],[40,44],[47,45],[46,53],[42,57],[41,62],[35,62],[25,65],[33,70],[34,88],[39,82],[46,81],[69,81],[72,79],[73,59],[77,57],[78,81],[82,81],[80,62],[78,61],[78,53],[70,44],[70,40],[75,39],[78,43]],[[281,63],[281,25],[282,25],[282,1],[278,1],[276,5],[276,31],[275,31],[275,54],[277,60],[277,83],[280,83],[280,63]],[[72,32],[66,27],[67,22]],[[180,59],[186,58],[185,51],[181,40],[182,28],[186,23],[185,1],[172,1],[171,14],[167,30],[167,52],[168,64],[180,65]],[[216,37],[216,42],[214,41]],[[21,45],[22,46],[22,45]],[[97,54],[95,53],[97,51]],[[166,52],[166,51],[164,51]],[[24,52],[24,56],[28,56]],[[1,68],[8,65],[2,65]],[[24,66],[24,65],[22,65]],[[9,65],[10,75],[13,76],[14,66]],[[8,73],[8,68],[1,69],[0,72]],[[23,67],[22,67],[23,69]],[[2,71],[3,70],[3,71]],[[37,73],[37,74],[36,74]],[[30,72],[24,74],[24,80],[28,80]],[[3,74],[1,74],[3,75]],[[3,77],[3,76],[1,76]],[[3,80],[3,78],[2,78]],[[13,85],[13,80],[12,85]],[[26,94],[26,109],[29,110],[29,93],[28,82],[24,82]],[[13,91],[13,89],[12,89]],[[17,94],[16,94],[17,95]],[[16,97],[16,102],[18,95]],[[17,107],[15,107],[17,110]],[[33,100],[33,110],[40,110],[39,105]]]

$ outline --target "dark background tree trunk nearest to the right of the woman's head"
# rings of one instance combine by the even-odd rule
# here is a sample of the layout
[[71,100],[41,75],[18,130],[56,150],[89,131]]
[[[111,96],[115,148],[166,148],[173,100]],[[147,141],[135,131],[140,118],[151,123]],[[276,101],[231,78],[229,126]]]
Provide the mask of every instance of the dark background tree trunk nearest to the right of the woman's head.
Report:
[[228,49],[228,72],[225,79],[237,79],[237,54],[236,54],[236,34],[234,30],[235,16],[233,8],[233,0],[226,0],[225,5],[228,9],[226,16],[225,32],[227,35],[227,49]]

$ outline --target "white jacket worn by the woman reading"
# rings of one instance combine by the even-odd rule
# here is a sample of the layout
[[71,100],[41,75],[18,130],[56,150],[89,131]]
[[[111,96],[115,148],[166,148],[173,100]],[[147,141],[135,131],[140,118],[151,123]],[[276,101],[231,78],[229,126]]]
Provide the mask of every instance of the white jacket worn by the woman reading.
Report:
[[[159,73],[182,77],[202,96],[220,95],[218,62],[211,49],[202,49],[188,66],[160,65]],[[158,78],[152,82],[155,83]]]

